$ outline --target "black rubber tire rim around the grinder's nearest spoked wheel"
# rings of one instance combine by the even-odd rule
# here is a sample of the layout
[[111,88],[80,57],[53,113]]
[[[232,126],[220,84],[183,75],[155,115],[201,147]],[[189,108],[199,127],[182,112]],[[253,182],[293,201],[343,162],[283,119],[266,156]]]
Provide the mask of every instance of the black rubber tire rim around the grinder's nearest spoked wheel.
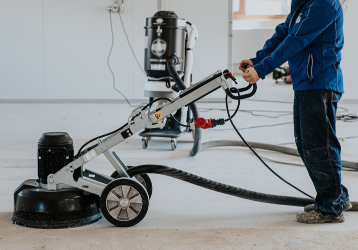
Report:
[[[143,202],[142,209],[139,212],[139,214],[132,220],[121,221],[121,220],[115,219],[114,217],[112,217],[112,215],[107,210],[106,198],[107,198],[108,194],[110,193],[110,191],[112,191],[113,188],[115,188],[116,186],[119,186],[119,185],[128,185],[128,186],[134,187],[142,197],[142,202]],[[107,186],[103,189],[103,192],[102,192],[101,198],[100,198],[100,207],[101,207],[103,216],[110,223],[114,224],[115,226],[119,226],[119,227],[130,227],[135,224],[138,224],[144,218],[144,216],[147,214],[148,207],[149,207],[149,197],[148,197],[148,193],[146,192],[145,188],[140,183],[135,181],[134,179],[130,179],[130,178],[114,179],[111,182],[109,182],[107,184]]]

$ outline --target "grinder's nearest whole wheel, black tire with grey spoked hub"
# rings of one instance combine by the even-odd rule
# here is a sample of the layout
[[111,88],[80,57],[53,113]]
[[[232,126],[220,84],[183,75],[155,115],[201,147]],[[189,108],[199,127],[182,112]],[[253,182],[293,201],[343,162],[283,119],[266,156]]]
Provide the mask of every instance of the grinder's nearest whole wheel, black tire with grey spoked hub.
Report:
[[101,194],[102,214],[112,224],[129,227],[147,214],[149,197],[145,188],[132,178],[114,179]]

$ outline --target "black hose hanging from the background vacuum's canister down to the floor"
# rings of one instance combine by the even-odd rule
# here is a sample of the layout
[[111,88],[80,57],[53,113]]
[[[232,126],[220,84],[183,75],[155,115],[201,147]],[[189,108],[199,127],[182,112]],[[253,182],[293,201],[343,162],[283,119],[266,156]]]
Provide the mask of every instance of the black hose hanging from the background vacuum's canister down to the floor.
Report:
[[[169,59],[167,59],[167,69],[168,69],[170,76],[174,79],[175,83],[178,85],[179,89],[184,90],[186,88],[186,86],[185,86],[183,80],[180,78],[180,76],[175,68],[175,64],[178,64],[178,63],[179,63],[179,60],[177,57],[174,57],[174,56],[170,57]],[[192,103],[189,106],[190,106],[191,112],[193,113],[194,120],[196,120],[197,118],[199,118],[198,107],[196,106],[195,103]],[[201,134],[202,134],[202,129],[195,129],[193,148],[190,149],[190,151],[189,151],[191,156],[194,156],[197,154],[197,152],[199,152],[200,142],[201,142]]]

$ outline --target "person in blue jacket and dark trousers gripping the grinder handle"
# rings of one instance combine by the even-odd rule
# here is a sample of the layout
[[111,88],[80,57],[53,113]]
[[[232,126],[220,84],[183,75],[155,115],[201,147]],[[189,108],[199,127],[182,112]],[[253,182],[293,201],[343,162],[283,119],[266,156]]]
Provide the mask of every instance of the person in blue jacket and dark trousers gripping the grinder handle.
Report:
[[[343,11],[339,0],[292,0],[292,10],[256,57],[240,62],[249,83],[288,60],[294,90],[296,146],[317,192],[315,204],[296,218],[304,223],[340,223],[351,208],[341,184],[340,144],[335,134],[337,102],[342,96],[340,68]],[[247,64],[252,68],[246,69]]]

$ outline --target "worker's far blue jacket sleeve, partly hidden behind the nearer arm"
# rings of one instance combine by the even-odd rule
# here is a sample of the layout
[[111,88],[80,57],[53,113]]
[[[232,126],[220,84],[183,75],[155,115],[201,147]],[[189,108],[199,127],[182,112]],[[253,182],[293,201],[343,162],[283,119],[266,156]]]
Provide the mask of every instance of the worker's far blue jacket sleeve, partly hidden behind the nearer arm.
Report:
[[291,14],[287,16],[285,22],[277,25],[274,35],[266,41],[261,50],[256,52],[256,57],[250,59],[254,65],[259,63],[263,58],[273,52],[277,46],[287,37],[290,21]]

